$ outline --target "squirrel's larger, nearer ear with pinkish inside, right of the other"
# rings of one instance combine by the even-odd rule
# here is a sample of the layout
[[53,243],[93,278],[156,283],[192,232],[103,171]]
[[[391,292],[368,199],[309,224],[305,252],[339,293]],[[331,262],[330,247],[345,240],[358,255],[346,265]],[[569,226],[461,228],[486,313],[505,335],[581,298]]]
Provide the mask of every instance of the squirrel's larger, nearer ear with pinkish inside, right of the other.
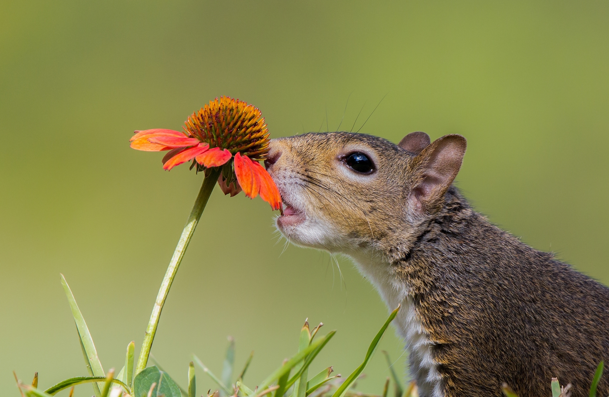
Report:
[[442,205],[446,191],[459,172],[466,146],[463,136],[445,135],[412,160],[409,201],[416,211],[434,211]]

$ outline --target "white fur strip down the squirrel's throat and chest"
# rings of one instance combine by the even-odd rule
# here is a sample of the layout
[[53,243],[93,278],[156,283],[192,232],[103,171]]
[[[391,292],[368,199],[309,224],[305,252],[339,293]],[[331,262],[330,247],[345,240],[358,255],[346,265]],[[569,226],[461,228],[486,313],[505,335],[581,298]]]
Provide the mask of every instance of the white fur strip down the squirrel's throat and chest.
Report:
[[[412,300],[408,297],[407,286],[400,283],[395,276],[392,265],[368,255],[349,255],[357,269],[368,279],[381,294],[390,310],[401,304],[401,309],[394,320],[400,336],[406,343],[410,355],[410,373],[417,380],[421,397],[444,397],[440,389],[440,373],[437,363],[431,355],[433,343],[423,331],[421,321]],[[375,260],[376,259],[376,260]]]

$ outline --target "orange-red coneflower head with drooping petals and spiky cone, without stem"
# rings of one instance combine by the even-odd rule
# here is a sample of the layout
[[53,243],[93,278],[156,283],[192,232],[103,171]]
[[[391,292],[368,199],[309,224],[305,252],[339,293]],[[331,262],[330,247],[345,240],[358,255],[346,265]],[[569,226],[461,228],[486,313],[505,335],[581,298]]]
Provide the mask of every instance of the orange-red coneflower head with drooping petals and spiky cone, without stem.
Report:
[[197,172],[222,167],[218,183],[224,194],[241,190],[258,194],[273,209],[281,209],[281,195],[269,173],[258,163],[269,149],[269,130],[258,108],[239,99],[220,97],[189,116],[184,132],[164,129],[136,131],[131,147],[147,152],[169,150],[163,169],[187,161]]

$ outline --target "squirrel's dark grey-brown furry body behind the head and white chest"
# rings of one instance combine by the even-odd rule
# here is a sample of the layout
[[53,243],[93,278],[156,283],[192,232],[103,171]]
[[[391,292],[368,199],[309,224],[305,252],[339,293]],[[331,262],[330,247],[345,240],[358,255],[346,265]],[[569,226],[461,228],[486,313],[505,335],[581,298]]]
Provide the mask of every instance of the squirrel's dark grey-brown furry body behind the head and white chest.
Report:
[[[588,395],[609,359],[609,288],[477,214],[452,187],[446,206],[396,263],[434,343],[449,395]],[[477,392],[472,392],[477,390]],[[478,391],[479,390],[479,391]],[[609,394],[607,377],[599,395]]]

